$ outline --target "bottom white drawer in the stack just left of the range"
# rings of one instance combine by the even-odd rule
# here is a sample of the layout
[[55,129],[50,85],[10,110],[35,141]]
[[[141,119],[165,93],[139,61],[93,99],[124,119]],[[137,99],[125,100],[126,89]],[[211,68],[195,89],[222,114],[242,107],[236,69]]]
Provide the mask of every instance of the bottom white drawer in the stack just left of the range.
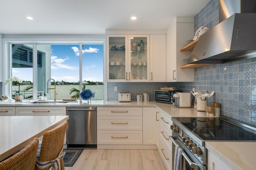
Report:
[[172,170],[172,159],[174,159],[172,158],[172,149],[168,147],[164,139],[161,137],[159,138],[159,150],[159,154],[164,162],[166,169]]

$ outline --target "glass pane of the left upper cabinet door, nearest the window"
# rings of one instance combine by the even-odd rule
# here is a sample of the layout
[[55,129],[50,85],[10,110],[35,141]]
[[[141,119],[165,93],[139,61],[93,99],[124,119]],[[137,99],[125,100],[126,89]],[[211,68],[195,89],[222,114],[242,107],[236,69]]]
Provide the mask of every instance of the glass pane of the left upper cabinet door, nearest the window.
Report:
[[109,37],[109,79],[125,79],[125,37]]

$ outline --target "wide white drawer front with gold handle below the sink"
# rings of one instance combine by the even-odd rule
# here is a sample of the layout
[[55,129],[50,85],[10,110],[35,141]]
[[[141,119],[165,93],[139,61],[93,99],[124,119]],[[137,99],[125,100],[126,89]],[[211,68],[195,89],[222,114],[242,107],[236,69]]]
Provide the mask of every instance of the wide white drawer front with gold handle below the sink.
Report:
[[66,115],[66,107],[16,107],[17,116]]

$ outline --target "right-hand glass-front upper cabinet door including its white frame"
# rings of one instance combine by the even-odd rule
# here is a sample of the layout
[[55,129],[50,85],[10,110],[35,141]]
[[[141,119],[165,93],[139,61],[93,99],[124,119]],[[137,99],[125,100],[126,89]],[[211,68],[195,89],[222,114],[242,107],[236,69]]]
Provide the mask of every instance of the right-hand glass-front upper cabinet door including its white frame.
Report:
[[149,82],[149,35],[128,35],[129,81]]

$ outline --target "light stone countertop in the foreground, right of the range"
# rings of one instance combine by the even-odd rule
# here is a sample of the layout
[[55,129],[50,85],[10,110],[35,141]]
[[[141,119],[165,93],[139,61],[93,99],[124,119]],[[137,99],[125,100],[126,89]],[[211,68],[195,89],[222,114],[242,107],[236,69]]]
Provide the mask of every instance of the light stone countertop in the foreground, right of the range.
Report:
[[256,169],[256,142],[206,142],[205,147],[232,170]]

